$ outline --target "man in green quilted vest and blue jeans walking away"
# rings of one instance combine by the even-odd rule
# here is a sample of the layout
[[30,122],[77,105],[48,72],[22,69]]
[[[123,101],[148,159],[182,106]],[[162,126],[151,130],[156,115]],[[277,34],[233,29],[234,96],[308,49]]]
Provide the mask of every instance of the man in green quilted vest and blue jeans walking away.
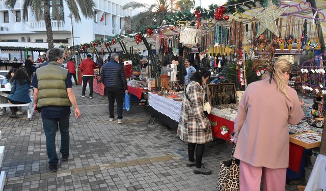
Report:
[[46,138],[46,150],[49,158],[49,171],[58,171],[56,152],[56,132],[60,129],[62,161],[69,157],[69,116],[70,106],[74,106],[74,115],[80,117],[75,94],[71,88],[71,76],[63,68],[64,50],[52,48],[49,51],[49,63],[38,69],[33,78],[34,110],[41,108],[43,129]]

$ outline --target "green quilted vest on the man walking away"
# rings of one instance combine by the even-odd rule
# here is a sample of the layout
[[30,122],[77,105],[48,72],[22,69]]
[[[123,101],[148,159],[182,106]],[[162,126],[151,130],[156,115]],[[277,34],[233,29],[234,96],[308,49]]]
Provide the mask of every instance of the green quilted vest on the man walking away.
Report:
[[67,73],[67,69],[54,61],[36,70],[39,89],[38,107],[72,105],[66,90]]

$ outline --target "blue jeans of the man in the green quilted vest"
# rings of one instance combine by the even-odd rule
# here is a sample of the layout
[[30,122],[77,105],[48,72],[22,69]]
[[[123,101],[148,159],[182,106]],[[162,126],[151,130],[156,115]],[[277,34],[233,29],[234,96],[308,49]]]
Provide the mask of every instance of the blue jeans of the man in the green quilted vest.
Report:
[[49,164],[57,164],[59,159],[56,152],[56,133],[59,125],[61,134],[61,154],[69,153],[69,115],[56,119],[42,119],[46,137],[46,150]]

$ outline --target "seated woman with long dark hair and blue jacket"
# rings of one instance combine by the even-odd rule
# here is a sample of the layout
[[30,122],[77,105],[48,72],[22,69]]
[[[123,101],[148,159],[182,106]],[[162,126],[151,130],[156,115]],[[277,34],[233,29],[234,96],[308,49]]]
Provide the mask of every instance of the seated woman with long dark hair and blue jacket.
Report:
[[[31,79],[22,69],[18,69],[11,79],[11,91],[8,95],[8,103],[24,104],[30,103],[32,100],[29,96],[29,89],[31,86]],[[16,112],[18,107],[10,107],[10,118],[17,118]]]

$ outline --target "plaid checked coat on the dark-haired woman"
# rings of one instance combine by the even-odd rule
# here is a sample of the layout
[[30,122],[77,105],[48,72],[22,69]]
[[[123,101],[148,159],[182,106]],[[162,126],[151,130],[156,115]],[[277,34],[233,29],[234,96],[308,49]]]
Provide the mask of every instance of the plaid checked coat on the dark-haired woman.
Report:
[[205,92],[196,81],[191,81],[184,97],[177,136],[184,142],[204,144],[213,141],[210,122],[204,114]]

